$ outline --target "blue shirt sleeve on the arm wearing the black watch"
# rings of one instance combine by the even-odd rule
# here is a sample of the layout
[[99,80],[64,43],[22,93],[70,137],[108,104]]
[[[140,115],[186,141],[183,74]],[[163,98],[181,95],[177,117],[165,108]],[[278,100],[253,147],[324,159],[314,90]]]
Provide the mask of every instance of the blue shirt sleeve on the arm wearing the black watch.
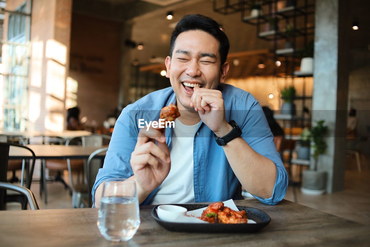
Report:
[[274,137],[260,104],[250,93],[245,92],[242,98],[244,99],[242,103],[245,105],[241,105],[239,109],[250,109],[246,114],[238,114],[239,121],[242,123],[242,137],[254,151],[270,159],[276,166],[276,181],[272,197],[263,199],[253,196],[263,203],[275,205],[285,196],[288,187],[288,174],[279,153],[276,151]]

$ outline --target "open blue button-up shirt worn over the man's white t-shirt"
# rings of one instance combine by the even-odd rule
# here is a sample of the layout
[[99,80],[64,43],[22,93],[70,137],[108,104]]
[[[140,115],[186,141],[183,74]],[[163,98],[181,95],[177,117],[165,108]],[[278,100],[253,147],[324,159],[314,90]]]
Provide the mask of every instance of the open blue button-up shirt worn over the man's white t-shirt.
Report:
[[[276,165],[276,181],[272,197],[263,203],[275,205],[285,196],[288,175],[276,151],[274,138],[258,101],[248,92],[232,85],[219,84],[225,104],[226,120],[234,120],[242,130],[242,138],[254,151],[272,160]],[[170,103],[176,103],[172,88],[158,90],[125,107],[114,126],[112,139],[92,188],[95,191],[107,179],[129,178],[133,174],[130,157],[134,151],[139,132],[138,119],[153,121],[159,119],[159,111]],[[155,110],[155,111],[152,111]],[[194,195],[195,202],[226,201],[241,199],[241,185],[231,169],[222,146],[219,146],[213,132],[202,121],[194,136]],[[171,143],[172,129],[165,132],[166,143]],[[142,205],[148,204],[158,188],[151,192]]]

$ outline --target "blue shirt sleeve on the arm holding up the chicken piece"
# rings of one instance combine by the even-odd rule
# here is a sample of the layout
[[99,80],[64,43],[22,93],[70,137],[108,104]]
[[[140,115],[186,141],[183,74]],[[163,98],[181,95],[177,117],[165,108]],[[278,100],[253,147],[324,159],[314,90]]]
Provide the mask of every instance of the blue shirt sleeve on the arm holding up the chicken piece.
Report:
[[136,121],[131,115],[137,109],[135,104],[128,105],[122,110],[115,123],[103,168],[99,169],[92,187],[93,207],[95,207],[95,191],[102,182],[112,178],[129,178],[134,175],[129,161],[137,142],[137,128]]

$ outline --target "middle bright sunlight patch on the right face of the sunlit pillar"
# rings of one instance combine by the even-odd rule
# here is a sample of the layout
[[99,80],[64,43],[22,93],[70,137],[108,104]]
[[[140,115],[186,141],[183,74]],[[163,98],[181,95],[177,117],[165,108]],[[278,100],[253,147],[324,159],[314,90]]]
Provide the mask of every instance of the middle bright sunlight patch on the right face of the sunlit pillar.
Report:
[[46,93],[64,101],[65,67],[53,60],[47,62]]

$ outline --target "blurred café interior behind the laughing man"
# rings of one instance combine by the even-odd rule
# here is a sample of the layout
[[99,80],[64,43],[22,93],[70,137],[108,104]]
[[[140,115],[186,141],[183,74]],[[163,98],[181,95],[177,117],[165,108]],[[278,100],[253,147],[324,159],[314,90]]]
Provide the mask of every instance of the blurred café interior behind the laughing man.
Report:
[[[263,106],[289,176],[284,201],[370,225],[369,1],[1,0],[0,8],[0,182],[29,189],[40,212],[93,210],[118,116],[171,86],[171,33],[182,16],[202,14],[228,36],[225,83]],[[0,186],[0,197],[1,210],[33,211],[10,187]],[[245,190],[242,197],[256,200]],[[140,230],[130,241],[149,241]]]

